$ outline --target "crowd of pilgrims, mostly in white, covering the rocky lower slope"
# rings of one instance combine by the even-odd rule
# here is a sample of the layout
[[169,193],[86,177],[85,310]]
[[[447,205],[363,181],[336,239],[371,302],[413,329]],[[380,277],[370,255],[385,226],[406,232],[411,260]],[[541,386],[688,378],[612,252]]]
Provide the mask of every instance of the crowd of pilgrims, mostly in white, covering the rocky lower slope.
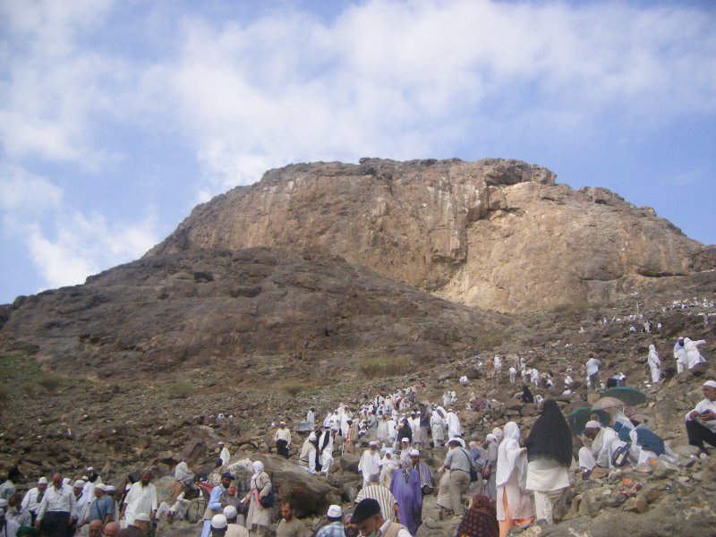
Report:
[[[694,358],[688,352],[693,353],[696,345],[690,343],[679,338],[674,349],[675,358],[686,361],[685,367],[691,367],[689,363]],[[703,361],[703,357],[699,358]],[[475,360],[482,361],[479,355]],[[500,357],[496,356],[491,365],[493,374],[499,375]],[[582,368],[587,386],[592,389],[605,388],[599,377],[600,365],[592,355]],[[344,516],[342,507],[331,506],[325,524],[313,534],[350,537],[360,531],[362,535],[371,535],[372,528],[384,537],[414,537],[422,524],[423,498],[433,495],[437,497],[440,519],[451,516],[460,519],[458,537],[504,537],[515,525],[533,524],[535,520],[540,524],[552,523],[552,502],[571,486],[570,481],[574,483],[571,467],[581,469],[586,479],[597,466],[616,465],[615,454],[620,449],[626,452],[626,462],[635,465],[658,456],[674,457],[652,431],[635,429],[635,423],[614,408],[609,411],[612,427],[602,426],[598,415],[586,423],[584,447],[580,448],[575,465],[572,432],[557,402],[533,396],[529,388],[531,383],[553,388],[554,375],[551,371],[540,374],[536,368],[526,366],[524,359],[515,359],[509,370],[511,382],[515,382],[516,367],[521,368],[524,380],[529,379],[523,390],[515,394],[516,398],[541,407],[541,415],[525,439],[516,422],[507,422],[504,428],[495,427],[484,441],[466,443],[456,411],[456,392],[447,390],[441,397],[442,405],[420,401],[418,394],[424,383],[388,395],[364,396],[365,403],[354,412],[346,405],[338,405],[321,422],[317,422],[315,409],[311,408],[299,428],[308,433],[297,451],[297,462],[303,470],[328,477],[337,453],[355,453],[362,442],[368,446],[358,464],[362,489],[355,500],[354,512]],[[624,379],[618,374],[608,379],[607,386],[620,384]],[[567,369],[563,393],[569,393],[571,382],[571,369]],[[706,382],[703,390],[706,398],[686,418],[691,443],[701,447],[703,439],[714,443],[716,427],[712,424],[716,423],[716,413],[712,407],[716,382]],[[472,394],[465,407],[483,410],[494,404],[499,402],[478,399]],[[704,419],[713,420],[706,426],[698,423],[704,412],[711,412]],[[277,454],[288,458],[292,435],[286,422],[279,422],[273,440]],[[633,445],[623,449],[627,440],[633,440]],[[217,466],[224,466],[230,454],[224,442],[219,442],[218,449]],[[444,460],[438,471],[433,472],[422,460],[422,454],[437,450],[431,452],[432,457],[437,453],[441,458],[441,449],[445,449]],[[74,481],[63,479],[60,473],[55,473],[51,482],[42,476],[36,486],[21,495],[14,487],[20,473],[13,468],[7,481],[0,485],[0,533],[5,537],[37,534],[70,537],[75,533],[90,537],[151,535],[158,517],[166,516],[170,521],[182,519],[190,500],[203,493],[207,505],[201,537],[260,536],[271,526],[273,485],[260,461],[252,463],[252,470],[248,482],[237,482],[234,475],[225,472],[221,482],[212,485],[180,462],[175,467],[175,480],[183,483],[185,491],[169,506],[158,505],[149,472],[143,473],[141,480],[128,482],[123,490],[114,490],[88,467],[86,475]],[[465,509],[465,500],[470,496],[472,501]],[[285,503],[280,507],[282,519],[276,527],[277,537],[311,535],[303,522],[293,516],[293,506]]]

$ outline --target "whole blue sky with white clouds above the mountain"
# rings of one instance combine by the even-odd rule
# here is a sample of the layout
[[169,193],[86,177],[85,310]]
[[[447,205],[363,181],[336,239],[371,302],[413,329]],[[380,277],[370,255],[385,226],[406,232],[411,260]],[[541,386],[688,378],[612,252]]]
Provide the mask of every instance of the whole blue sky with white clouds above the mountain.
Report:
[[292,162],[518,158],[716,243],[716,3],[7,0],[0,303]]

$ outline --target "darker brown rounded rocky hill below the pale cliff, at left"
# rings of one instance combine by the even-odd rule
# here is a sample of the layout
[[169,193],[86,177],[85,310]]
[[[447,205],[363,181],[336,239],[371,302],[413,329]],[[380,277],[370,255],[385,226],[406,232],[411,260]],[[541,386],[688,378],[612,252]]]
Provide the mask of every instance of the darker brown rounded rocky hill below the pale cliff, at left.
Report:
[[336,256],[269,248],[150,256],[18,299],[3,314],[5,352],[100,378],[241,367],[256,355],[309,364],[339,353],[345,366],[409,356],[425,365],[514,324]]

